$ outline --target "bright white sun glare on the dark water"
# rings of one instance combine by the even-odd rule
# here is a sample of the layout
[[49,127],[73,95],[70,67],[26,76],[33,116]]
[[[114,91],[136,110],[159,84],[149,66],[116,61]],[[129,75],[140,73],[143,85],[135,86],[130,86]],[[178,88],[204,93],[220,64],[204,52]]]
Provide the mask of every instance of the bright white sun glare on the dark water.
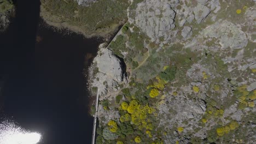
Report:
[[13,122],[0,123],[0,144],[37,144],[40,139],[39,133],[24,130]]

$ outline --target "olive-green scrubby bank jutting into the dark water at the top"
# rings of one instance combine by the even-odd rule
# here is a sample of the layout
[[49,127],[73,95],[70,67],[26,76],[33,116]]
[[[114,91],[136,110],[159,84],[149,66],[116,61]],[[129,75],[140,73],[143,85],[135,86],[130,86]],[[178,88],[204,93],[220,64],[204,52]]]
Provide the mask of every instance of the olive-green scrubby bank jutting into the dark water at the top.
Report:
[[41,15],[49,23],[66,23],[86,35],[108,34],[126,17],[129,3],[125,0],[99,0],[90,7],[74,0],[41,0]]

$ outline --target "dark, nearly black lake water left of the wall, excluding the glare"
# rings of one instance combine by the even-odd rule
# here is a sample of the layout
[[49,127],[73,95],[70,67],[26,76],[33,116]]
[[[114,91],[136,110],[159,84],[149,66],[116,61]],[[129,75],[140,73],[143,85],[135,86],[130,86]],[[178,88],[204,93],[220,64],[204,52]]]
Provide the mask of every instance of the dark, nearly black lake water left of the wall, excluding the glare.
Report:
[[39,0],[16,5],[13,23],[0,34],[4,80],[0,117],[38,131],[43,135],[40,143],[91,143],[93,119],[88,114],[83,69],[102,40],[45,27],[39,18]]

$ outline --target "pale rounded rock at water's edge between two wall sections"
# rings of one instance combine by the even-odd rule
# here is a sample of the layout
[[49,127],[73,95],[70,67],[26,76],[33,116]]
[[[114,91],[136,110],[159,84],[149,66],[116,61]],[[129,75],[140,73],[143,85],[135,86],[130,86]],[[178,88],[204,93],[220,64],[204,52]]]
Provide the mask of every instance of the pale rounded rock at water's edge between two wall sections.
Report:
[[113,51],[101,48],[93,63],[92,69],[97,73],[91,76],[91,85],[98,88],[100,95],[117,91],[119,85],[126,81],[126,66],[119,57],[114,55]]

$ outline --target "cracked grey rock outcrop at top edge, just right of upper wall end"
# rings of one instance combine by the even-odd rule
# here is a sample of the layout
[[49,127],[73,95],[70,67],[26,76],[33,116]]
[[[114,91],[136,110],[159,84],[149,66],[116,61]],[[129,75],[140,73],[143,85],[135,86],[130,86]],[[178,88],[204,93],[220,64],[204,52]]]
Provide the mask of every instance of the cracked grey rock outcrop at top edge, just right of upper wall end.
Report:
[[176,13],[172,9],[172,5],[175,3],[178,1],[143,1],[138,4],[135,19],[129,21],[135,22],[152,41],[157,41],[161,37],[168,41],[172,29],[175,27]]

